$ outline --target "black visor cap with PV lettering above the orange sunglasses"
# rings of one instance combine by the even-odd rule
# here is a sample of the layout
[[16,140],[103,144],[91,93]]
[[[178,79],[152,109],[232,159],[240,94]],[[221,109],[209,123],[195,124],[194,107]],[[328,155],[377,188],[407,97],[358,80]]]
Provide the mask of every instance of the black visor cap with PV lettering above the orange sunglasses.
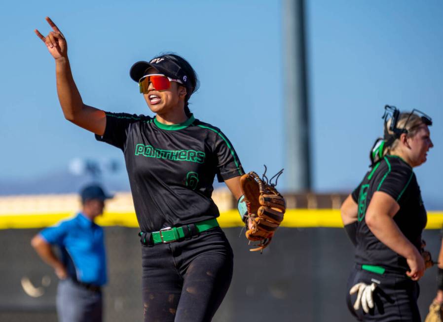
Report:
[[131,70],[129,71],[129,75],[134,81],[138,83],[140,78],[145,75],[145,71],[149,67],[153,67],[165,76],[174,79],[180,79],[185,87],[191,86],[188,84],[188,76],[186,75],[185,71],[176,61],[174,61],[170,57],[171,56],[164,55],[152,59],[149,63],[145,61],[137,62],[132,65]]

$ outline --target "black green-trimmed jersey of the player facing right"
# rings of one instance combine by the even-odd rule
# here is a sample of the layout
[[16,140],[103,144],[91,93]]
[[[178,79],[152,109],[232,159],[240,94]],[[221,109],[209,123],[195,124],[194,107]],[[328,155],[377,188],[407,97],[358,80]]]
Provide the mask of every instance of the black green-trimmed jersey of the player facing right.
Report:
[[387,155],[372,167],[352,192],[352,199],[358,204],[356,262],[396,271],[409,270],[406,258],[380,242],[364,220],[375,191],[385,192],[397,201],[400,209],[394,215],[394,221],[405,237],[418,250],[421,248],[421,233],[427,215],[420,187],[412,168],[402,158]]

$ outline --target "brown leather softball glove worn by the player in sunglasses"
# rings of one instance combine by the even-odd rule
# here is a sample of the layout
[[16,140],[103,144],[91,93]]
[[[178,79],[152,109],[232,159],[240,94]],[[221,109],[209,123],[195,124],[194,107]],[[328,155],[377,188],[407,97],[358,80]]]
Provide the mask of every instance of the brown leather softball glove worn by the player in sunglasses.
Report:
[[[262,251],[268,246],[275,230],[283,220],[286,202],[275,188],[277,179],[282,172],[283,170],[277,173],[269,182],[265,174],[263,174],[263,179],[260,179],[255,172],[250,172],[240,178],[240,186],[248,209],[246,217],[252,219],[252,228],[249,229],[247,224],[246,238],[253,242],[259,242],[256,245],[258,248],[251,249],[251,251]],[[273,184],[271,181],[275,177],[277,179]]]

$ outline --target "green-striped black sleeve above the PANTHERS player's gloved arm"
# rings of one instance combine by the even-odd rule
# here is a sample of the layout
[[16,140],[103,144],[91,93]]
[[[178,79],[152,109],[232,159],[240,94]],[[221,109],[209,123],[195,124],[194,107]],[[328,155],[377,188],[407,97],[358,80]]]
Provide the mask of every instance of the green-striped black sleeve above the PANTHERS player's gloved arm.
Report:
[[245,174],[232,143],[221,131],[217,132],[214,153],[217,159],[217,179],[219,182]]

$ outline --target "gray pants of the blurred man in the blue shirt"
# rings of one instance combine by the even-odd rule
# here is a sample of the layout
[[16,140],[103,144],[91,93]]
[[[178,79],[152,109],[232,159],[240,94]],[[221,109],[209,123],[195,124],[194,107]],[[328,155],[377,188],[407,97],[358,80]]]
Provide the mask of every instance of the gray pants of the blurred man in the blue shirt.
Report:
[[59,322],[101,322],[102,293],[62,280],[57,288]]

